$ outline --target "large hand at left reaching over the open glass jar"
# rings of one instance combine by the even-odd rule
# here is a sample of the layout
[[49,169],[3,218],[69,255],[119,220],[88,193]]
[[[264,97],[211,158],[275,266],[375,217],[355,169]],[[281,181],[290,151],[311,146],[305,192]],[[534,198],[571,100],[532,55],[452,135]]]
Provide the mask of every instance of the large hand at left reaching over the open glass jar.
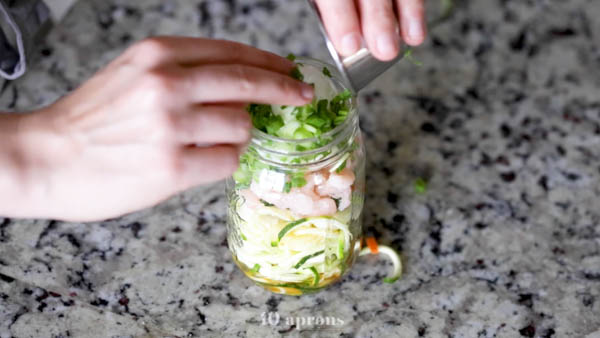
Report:
[[312,99],[312,87],[289,76],[293,66],[234,42],[135,44],[20,122],[32,200],[22,217],[100,220],[229,176],[250,138],[247,102]]

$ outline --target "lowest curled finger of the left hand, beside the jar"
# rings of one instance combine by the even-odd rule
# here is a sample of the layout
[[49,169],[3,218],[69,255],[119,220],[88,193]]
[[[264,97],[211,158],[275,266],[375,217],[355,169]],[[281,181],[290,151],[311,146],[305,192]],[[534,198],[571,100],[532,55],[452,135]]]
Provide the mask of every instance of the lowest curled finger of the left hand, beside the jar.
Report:
[[238,167],[239,152],[239,147],[231,145],[184,148],[179,156],[181,189],[230,176]]

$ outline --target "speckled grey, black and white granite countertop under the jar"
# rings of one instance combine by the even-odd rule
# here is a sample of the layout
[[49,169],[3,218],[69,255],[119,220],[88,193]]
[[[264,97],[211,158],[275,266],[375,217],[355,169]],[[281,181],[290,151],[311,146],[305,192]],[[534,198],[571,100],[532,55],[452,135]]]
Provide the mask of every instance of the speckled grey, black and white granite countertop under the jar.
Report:
[[[398,282],[367,257],[315,295],[254,286],[219,183],[100,223],[0,218],[0,337],[600,337],[600,2],[457,3],[421,67],[360,95],[365,230],[401,250]],[[0,106],[53,102],[156,34],[328,58],[299,0],[82,1]]]

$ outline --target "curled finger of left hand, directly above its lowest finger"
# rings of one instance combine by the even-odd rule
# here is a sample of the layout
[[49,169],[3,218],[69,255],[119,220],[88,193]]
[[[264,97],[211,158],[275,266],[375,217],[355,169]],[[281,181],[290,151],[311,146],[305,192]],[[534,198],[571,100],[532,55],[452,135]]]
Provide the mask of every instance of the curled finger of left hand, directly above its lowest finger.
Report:
[[245,144],[252,127],[243,105],[196,105],[174,121],[177,141],[184,144]]

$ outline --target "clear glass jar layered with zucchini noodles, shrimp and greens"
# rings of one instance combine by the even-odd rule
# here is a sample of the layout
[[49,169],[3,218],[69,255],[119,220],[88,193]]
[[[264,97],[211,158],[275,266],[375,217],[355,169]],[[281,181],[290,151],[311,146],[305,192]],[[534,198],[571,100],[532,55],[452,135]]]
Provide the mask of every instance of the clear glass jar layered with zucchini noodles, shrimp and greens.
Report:
[[[338,93],[346,87],[327,67]],[[365,149],[354,97],[341,124],[319,137],[278,138],[258,129],[226,182],[228,243],[255,283],[282,294],[315,292],[339,280],[360,250]]]

